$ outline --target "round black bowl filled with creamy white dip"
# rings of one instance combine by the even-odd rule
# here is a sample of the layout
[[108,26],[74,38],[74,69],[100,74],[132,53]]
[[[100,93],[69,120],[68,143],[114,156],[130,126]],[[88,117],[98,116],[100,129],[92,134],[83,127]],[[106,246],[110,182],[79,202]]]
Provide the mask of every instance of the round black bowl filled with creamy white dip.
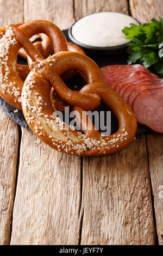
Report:
[[131,41],[122,33],[130,23],[140,22],[121,13],[95,13],[83,17],[69,29],[70,39],[87,50],[120,51]]

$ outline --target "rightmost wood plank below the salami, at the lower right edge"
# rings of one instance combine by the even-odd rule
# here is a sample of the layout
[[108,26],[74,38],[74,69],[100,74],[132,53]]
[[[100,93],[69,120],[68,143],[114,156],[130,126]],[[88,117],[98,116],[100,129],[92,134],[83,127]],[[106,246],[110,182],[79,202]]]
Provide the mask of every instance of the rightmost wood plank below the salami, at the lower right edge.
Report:
[[159,244],[163,245],[163,136],[147,134],[149,170],[154,197],[154,210]]

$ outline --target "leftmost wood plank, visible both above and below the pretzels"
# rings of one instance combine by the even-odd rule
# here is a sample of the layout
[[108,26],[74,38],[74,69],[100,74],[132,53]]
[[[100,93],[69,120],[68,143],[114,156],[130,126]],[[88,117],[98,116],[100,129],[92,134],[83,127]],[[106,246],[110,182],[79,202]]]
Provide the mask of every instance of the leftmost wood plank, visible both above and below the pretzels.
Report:
[[[23,0],[0,1],[0,26],[23,21]],[[0,244],[8,245],[14,203],[18,126],[0,109]]]

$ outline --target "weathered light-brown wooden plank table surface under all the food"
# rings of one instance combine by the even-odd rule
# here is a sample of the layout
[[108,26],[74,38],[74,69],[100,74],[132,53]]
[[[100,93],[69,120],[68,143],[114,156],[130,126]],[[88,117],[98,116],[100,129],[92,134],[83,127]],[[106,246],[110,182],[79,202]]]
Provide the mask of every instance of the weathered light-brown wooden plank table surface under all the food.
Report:
[[[0,25],[45,19],[66,29],[98,11],[140,22],[162,0],[0,0]],[[108,58],[113,58],[108,57]],[[0,109],[1,245],[163,244],[163,136],[137,136],[120,153],[73,157],[43,144]]]

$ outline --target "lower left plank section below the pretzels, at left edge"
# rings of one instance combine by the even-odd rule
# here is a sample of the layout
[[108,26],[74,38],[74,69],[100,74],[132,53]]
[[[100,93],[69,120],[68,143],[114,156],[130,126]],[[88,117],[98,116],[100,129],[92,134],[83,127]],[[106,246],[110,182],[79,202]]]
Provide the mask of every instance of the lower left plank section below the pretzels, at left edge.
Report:
[[0,108],[0,245],[8,245],[14,203],[18,126]]

